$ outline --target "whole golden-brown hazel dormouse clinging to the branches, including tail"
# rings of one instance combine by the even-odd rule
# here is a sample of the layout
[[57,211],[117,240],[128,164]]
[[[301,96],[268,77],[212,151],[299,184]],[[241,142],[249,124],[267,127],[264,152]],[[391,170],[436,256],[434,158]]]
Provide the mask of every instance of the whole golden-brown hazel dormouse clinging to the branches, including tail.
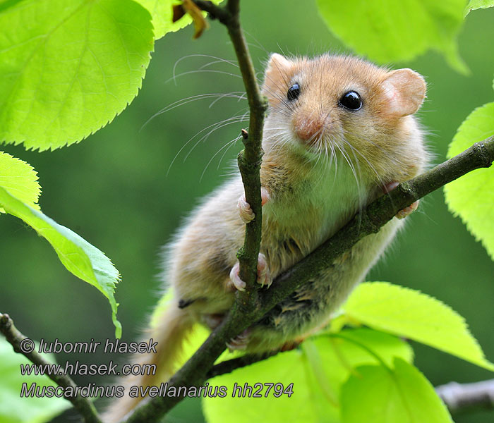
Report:
[[[268,287],[362,207],[423,170],[428,154],[413,115],[426,96],[426,83],[410,69],[389,71],[351,56],[287,59],[272,54],[262,90],[269,106],[260,168],[258,282]],[[390,244],[404,223],[399,218],[416,207],[412,204],[356,243],[231,340],[229,348],[276,350],[321,326]],[[157,353],[135,357],[157,364],[158,372],[129,377],[123,381],[126,388],[167,381],[192,326],[219,324],[235,291],[244,286],[236,251],[253,217],[237,173],[207,196],[176,233],[163,258],[162,279],[172,300],[157,308],[145,336],[158,342]],[[109,407],[105,422],[118,421],[142,400],[127,391]]]

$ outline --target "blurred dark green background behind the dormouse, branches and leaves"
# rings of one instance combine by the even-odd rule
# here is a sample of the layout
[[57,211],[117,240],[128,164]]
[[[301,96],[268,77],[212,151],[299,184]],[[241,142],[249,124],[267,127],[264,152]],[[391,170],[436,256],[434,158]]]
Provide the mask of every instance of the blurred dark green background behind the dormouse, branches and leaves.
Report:
[[[270,52],[347,52],[318,17],[315,1],[243,1],[241,17],[260,78]],[[466,18],[459,49],[471,69],[469,76],[452,71],[435,52],[409,63],[389,63],[394,68],[413,68],[428,82],[428,99],[419,116],[430,131],[428,144],[435,163],[445,159],[447,145],[463,119],[476,106],[494,99],[493,20],[494,10],[489,9]],[[245,113],[246,101],[219,99],[211,107],[212,99],[191,102],[143,126],[165,106],[186,97],[243,91],[234,66],[213,63],[202,68],[205,72],[195,72],[215,61],[195,55],[234,59],[224,28],[212,22],[198,41],[192,40],[192,33],[188,27],[157,42],[138,97],[114,122],[87,140],[41,154],[2,146],[39,172],[43,212],[99,247],[121,272],[116,299],[124,341],[139,336],[158,298],[160,246],[170,240],[198,200],[231,171],[241,143],[236,142],[224,157],[222,148],[247,126],[234,123],[219,129],[190,154],[198,137],[179,150],[193,135],[212,123]],[[186,73],[176,83],[170,80],[174,65],[177,74]],[[208,71],[213,69],[223,73]],[[11,314],[20,331],[31,338],[60,341],[101,341],[114,336],[106,300],[69,274],[46,241],[13,216],[1,216],[0,231],[0,310]],[[398,283],[446,302],[465,317],[486,356],[494,361],[493,276],[494,264],[483,247],[447,211],[442,192],[435,192],[422,200],[420,211],[409,219],[406,230],[368,280]],[[473,364],[414,346],[416,364],[434,385],[493,377]],[[59,355],[59,362],[100,363],[111,358]],[[108,382],[75,379],[79,384]],[[75,416],[67,412],[56,421]],[[455,417],[457,423],[493,420],[494,412]],[[200,404],[194,400],[182,403],[167,421],[202,422]]]

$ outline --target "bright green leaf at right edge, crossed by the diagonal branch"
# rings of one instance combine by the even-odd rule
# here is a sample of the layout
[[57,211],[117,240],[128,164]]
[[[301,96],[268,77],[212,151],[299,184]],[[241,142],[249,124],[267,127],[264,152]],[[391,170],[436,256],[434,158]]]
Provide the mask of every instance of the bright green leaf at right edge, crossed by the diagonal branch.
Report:
[[[460,125],[447,156],[453,157],[494,135],[494,102],[478,107]],[[477,241],[494,259],[494,168],[472,171],[445,186],[450,212],[460,216]]]

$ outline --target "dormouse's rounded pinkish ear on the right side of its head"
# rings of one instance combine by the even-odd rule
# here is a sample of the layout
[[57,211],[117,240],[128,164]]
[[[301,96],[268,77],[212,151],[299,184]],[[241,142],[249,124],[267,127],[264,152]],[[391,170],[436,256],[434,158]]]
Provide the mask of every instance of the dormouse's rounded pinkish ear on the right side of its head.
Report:
[[414,114],[426,98],[426,81],[411,69],[388,73],[381,87],[385,95],[385,113],[391,116]]

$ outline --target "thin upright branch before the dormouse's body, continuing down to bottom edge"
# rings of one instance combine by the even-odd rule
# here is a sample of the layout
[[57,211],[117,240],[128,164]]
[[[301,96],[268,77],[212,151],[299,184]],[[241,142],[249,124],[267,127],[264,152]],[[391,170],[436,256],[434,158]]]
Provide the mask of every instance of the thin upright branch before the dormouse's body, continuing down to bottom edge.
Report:
[[[260,196],[260,162],[263,157],[262,140],[264,115],[267,100],[260,94],[251,55],[240,25],[239,0],[228,0],[226,6],[219,7],[210,1],[195,1],[195,4],[210,13],[227,27],[239,62],[243,84],[246,88],[250,119],[248,136],[243,137],[245,149],[239,154],[239,169],[245,189],[246,201],[251,205],[255,219],[246,225],[243,247],[237,253],[241,279],[246,283],[244,292],[236,293],[236,301],[230,312],[191,359],[183,365],[169,381],[169,385],[198,386],[205,381],[207,372],[225,349],[225,339],[237,336],[241,331],[261,316],[258,297],[257,264],[262,228],[262,204]],[[155,422],[181,398],[155,398],[140,405],[127,422]]]

